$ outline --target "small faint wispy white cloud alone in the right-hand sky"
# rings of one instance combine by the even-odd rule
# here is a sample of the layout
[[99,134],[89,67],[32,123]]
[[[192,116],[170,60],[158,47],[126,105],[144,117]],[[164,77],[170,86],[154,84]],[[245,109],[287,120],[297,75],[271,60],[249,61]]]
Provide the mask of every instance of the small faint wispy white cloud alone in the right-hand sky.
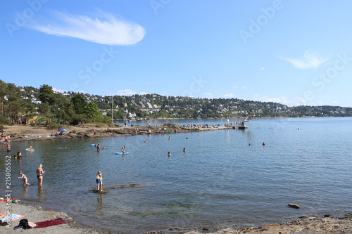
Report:
[[320,58],[316,53],[308,50],[303,55],[303,59],[295,59],[295,58],[284,58],[282,56],[277,56],[282,60],[286,60],[291,63],[295,67],[299,69],[307,69],[311,67],[319,67],[322,63],[328,60],[328,58]]

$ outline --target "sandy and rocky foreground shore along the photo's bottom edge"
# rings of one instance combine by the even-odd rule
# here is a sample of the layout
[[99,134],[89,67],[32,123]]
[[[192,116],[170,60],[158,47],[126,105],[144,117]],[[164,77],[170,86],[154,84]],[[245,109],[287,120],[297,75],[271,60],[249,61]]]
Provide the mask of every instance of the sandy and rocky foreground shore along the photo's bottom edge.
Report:
[[[0,209],[5,211],[5,202],[0,203]],[[45,221],[49,219],[61,218],[65,220],[65,224],[51,226],[47,228],[34,228],[27,230],[13,230],[18,226],[19,220],[12,221],[11,226],[1,226],[0,233],[92,233],[105,234],[115,233],[113,231],[103,231],[92,228],[91,226],[83,226],[73,220],[70,216],[63,212],[53,212],[42,209],[37,205],[12,204],[11,212],[13,214],[25,215],[23,219],[28,219],[31,222]],[[233,222],[234,221],[229,221]],[[295,221],[285,223],[270,223],[262,226],[237,228],[232,225],[231,228],[169,228],[168,230],[155,230],[149,233],[142,234],[288,234],[288,233],[302,233],[302,234],[348,234],[352,233],[352,214],[346,214],[342,217],[334,217],[329,214],[324,217],[316,216],[301,216]]]

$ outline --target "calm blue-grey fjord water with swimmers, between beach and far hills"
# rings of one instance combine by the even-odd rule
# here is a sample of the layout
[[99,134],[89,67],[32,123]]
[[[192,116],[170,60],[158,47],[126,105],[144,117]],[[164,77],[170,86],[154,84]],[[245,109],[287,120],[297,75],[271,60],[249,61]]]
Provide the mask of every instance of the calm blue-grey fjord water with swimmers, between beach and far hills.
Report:
[[[352,118],[253,119],[247,125],[246,130],[13,142],[11,155],[20,149],[23,159],[11,162],[12,195],[116,233],[253,226],[352,212]],[[105,149],[96,152],[91,143]],[[25,152],[30,145],[35,151]],[[115,155],[123,145],[130,154]],[[42,189],[36,185],[39,163],[46,171]],[[4,171],[4,163],[0,168]],[[89,191],[99,170],[108,188],[102,195]],[[18,171],[33,186],[23,188]],[[6,190],[2,179],[0,189]]]

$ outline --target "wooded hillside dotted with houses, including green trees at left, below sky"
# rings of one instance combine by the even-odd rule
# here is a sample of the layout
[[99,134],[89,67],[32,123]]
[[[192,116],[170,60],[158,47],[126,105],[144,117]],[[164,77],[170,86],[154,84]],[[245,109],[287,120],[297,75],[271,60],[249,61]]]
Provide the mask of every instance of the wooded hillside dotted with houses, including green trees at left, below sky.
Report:
[[[133,96],[99,96],[89,93],[54,91],[16,86],[0,80],[1,122],[106,122],[111,119],[206,119],[256,117],[351,117],[352,108],[300,105],[241,100],[238,98],[192,98],[151,93]],[[113,110],[113,112],[112,112]],[[40,115],[40,116],[39,116]],[[39,119],[39,120],[38,120]],[[42,121],[40,121],[42,120]]]

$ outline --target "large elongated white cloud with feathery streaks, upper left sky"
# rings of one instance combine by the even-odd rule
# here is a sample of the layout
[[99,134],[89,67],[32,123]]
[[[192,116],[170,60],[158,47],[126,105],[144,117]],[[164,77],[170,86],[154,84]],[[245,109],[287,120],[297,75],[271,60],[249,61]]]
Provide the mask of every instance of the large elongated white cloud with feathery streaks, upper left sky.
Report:
[[146,34],[144,28],[137,23],[101,11],[94,17],[55,11],[54,21],[49,22],[49,19],[46,19],[41,22],[30,22],[27,27],[46,34],[119,46],[136,44]]

